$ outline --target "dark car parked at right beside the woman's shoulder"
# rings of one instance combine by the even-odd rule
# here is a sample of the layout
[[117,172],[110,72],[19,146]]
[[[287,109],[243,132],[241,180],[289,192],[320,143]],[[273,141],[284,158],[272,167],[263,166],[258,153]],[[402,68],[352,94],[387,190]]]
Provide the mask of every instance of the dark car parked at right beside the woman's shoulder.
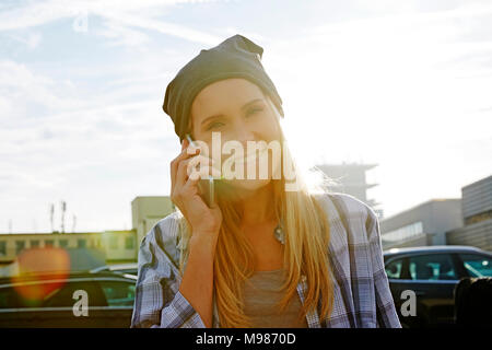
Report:
[[[492,254],[469,246],[395,248],[384,259],[398,316],[409,328],[454,327],[456,284],[466,277],[492,276]],[[415,295],[414,316],[401,313],[408,291]],[[408,310],[408,303],[403,306]]]

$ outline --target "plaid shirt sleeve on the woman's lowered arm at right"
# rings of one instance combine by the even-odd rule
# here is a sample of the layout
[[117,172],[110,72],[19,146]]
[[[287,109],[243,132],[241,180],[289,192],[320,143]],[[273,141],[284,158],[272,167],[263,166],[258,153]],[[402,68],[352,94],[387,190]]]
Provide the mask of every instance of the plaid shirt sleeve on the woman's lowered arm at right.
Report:
[[378,328],[401,328],[398,314],[395,308],[388,277],[383,259],[379,221],[373,209],[367,207],[368,215],[366,230],[372,256],[374,290],[376,296],[376,320]]

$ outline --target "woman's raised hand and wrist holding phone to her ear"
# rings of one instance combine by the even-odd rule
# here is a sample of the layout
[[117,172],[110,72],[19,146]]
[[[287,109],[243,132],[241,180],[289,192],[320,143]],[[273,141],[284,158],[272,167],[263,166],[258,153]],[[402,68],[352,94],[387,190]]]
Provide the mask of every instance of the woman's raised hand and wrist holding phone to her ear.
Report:
[[[183,140],[181,153],[171,162],[171,200],[179,208],[185,219],[188,221],[192,233],[192,241],[204,237],[216,243],[219,230],[222,224],[222,212],[219,206],[209,208],[200,196],[198,188],[199,176],[189,176],[188,166],[190,162],[203,159],[207,155],[201,154],[198,149],[198,155],[188,154],[189,142],[187,139]],[[208,161],[211,161],[207,158]],[[202,163],[204,164],[204,163]],[[202,168],[203,172],[211,173],[210,168]],[[197,174],[197,173],[196,173]],[[195,175],[196,175],[195,174]]]

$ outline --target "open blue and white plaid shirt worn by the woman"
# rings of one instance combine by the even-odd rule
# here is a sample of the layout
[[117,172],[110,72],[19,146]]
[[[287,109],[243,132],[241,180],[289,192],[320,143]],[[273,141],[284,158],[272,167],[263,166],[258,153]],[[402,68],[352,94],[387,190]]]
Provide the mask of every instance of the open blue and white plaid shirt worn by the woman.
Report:
[[[330,223],[329,258],[333,271],[333,308],[327,319],[315,310],[306,315],[309,328],[400,328],[389,290],[374,211],[344,194],[319,196]],[[186,248],[178,234],[179,213],[159,221],[142,240],[131,327],[204,327],[200,315],[179,292],[178,261]],[[283,238],[283,237],[281,237]],[[306,278],[297,284],[301,302]],[[213,300],[212,327],[220,327]]]

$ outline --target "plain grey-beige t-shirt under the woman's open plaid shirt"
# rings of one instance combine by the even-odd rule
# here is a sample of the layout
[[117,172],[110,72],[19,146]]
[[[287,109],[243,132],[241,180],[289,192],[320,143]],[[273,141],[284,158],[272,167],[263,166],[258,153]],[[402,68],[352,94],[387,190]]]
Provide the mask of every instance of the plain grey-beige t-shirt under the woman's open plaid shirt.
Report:
[[[301,316],[301,300],[295,294],[280,313],[277,304],[284,295],[282,283],[284,269],[255,271],[244,283],[245,314],[256,328],[307,328],[306,317]],[[249,281],[249,283],[248,283]]]

